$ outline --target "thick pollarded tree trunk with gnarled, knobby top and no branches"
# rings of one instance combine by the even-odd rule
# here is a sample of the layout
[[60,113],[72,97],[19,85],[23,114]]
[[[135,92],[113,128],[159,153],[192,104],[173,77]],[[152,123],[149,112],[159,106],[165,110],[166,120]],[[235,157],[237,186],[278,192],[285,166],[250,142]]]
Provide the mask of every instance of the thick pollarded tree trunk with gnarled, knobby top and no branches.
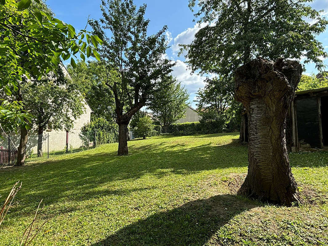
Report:
[[281,205],[299,202],[285,138],[286,114],[302,67],[261,57],[236,70],[235,97],[248,114],[248,174],[238,193]]

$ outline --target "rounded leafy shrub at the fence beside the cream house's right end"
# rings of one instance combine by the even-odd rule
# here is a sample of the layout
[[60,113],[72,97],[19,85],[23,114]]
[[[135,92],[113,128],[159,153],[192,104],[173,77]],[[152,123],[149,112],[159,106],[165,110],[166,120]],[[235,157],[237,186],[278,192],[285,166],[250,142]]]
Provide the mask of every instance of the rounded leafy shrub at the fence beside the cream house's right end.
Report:
[[80,138],[84,146],[89,147],[96,132],[97,144],[114,143],[118,141],[118,125],[102,117],[93,118],[89,124],[81,128]]

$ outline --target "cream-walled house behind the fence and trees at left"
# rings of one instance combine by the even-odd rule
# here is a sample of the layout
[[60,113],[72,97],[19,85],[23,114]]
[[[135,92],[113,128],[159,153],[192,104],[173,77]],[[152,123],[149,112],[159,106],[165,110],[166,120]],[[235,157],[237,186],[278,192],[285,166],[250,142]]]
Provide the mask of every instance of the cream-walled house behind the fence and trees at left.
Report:
[[[66,68],[61,66],[64,75],[68,75]],[[73,149],[79,148],[83,146],[85,143],[79,137],[81,133],[81,128],[85,125],[90,123],[92,109],[88,105],[86,101],[84,101],[85,112],[80,115],[80,117],[74,120],[73,128],[67,133],[66,131],[61,130],[52,130],[50,126],[46,129],[43,133],[43,141],[42,141],[42,149],[43,152],[48,150],[48,134],[49,134],[49,152],[57,151],[57,150],[64,150],[66,148],[66,140],[68,135],[68,146],[72,146]],[[1,134],[1,133],[0,133]],[[8,133],[7,133],[8,134]],[[8,147],[8,138],[1,134],[3,138],[0,138],[0,147],[7,148]],[[10,139],[12,141],[11,148],[16,148],[19,145],[20,134],[11,133]],[[27,142],[27,154],[37,153],[37,143],[38,143],[38,133],[37,131],[29,131],[28,133],[28,142]]]

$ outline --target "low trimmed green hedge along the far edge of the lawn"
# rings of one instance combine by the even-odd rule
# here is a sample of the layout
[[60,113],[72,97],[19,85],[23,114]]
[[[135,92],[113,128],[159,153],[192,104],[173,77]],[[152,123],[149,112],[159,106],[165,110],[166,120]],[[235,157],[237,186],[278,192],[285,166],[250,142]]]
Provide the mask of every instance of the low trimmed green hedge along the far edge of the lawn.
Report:
[[172,124],[168,129],[168,133],[172,133],[176,136],[222,133],[226,130],[224,127],[224,121],[210,120],[201,122],[186,122]]

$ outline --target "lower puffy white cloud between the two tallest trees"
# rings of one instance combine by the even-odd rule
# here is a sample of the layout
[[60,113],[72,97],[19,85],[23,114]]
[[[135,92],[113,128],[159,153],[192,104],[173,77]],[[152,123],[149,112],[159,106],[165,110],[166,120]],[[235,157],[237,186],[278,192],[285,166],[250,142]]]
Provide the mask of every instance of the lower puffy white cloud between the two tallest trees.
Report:
[[187,68],[187,64],[181,60],[176,60],[176,65],[173,67],[172,75],[176,77],[181,84],[185,85],[185,88],[189,93],[195,93],[199,88],[203,88],[206,77],[191,74],[191,71]]

